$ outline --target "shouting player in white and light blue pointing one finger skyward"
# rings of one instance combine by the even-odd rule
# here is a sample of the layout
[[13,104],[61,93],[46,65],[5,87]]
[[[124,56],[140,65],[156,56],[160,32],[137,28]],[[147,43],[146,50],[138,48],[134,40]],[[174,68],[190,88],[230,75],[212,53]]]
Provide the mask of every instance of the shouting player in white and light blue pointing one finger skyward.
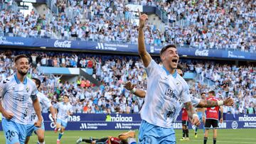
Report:
[[161,49],[163,67],[152,60],[144,43],[144,25],[148,17],[139,13],[139,55],[147,73],[147,89],[141,110],[142,124],[139,128],[139,143],[176,143],[172,123],[176,120],[181,105],[188,111],[191,122],[200,121],[193,109],[186,81],[177,74],[178,52],[175,45]]

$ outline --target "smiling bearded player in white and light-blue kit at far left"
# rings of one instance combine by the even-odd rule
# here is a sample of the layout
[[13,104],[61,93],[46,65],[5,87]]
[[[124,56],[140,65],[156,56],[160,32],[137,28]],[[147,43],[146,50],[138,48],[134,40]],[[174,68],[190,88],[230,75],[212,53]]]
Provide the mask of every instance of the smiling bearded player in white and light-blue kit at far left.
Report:
[[3,114],[2,126],[6,143],[23,144],[26,140],[29,99],[32,100],[33,109],[38,116],[34,123],[36,127],[41,127],[42,116],[36,96],[36,84],[26,77],[29,69],[28,57],[17,55],[14,63],[16,73],[0,82],[0,99],[3,101],[0,101],[0,112]]

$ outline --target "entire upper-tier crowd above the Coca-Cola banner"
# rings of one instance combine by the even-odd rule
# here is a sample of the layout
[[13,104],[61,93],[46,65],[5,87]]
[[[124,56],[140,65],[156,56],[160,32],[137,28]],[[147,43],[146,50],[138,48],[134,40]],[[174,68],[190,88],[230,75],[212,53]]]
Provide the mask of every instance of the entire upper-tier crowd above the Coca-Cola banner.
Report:
[[[145,40],[149,45],[190,45],[191,48],[218,48],[255,52],[255,1],[130,1],[159,6],[169,17],[164,31],[147,23]],[[1,9],[0,32],[21,37],[94,40],[137,43],[136,13],[127,1],[55,0],[58,15],[46,18],[35,11],[23,13]],[[72,13],[72,14],[71,14]],[[75,13],[75,14],[74,14]],[[179,23],[183,21],[183,23]]]

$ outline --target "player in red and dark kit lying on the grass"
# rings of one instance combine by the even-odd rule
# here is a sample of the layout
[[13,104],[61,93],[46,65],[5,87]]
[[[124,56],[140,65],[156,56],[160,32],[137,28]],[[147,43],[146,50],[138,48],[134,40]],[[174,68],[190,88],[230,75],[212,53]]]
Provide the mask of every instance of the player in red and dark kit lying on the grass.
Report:
[[127,133],[121,133],[118,135],[118,138],[108,136],[106,138],[100,138],[100,139],[85,139],[85,138],[79,138],[77,140],[78,143],[91,143],[91,144],[137,144],[135,139],[135,132],[134,131],[128,131]]

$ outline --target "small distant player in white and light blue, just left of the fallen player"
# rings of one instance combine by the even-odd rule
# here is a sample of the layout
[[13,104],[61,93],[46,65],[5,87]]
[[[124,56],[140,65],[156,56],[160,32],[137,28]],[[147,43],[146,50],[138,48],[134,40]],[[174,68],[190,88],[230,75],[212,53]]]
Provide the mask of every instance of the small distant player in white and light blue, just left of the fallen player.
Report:
[[63,102],[58,103],[55,107],[56,111],[58,109],[55,133],[57,133],[57,131],[60,130],[60,133],[57,139],[57,144],[60,143],[60,139],[63,136],[65,128],[67,127],[68,116],[73,114],[73,109],[71,104],[69,103],[68,98],[69,98],[68,95],[64,95]]

